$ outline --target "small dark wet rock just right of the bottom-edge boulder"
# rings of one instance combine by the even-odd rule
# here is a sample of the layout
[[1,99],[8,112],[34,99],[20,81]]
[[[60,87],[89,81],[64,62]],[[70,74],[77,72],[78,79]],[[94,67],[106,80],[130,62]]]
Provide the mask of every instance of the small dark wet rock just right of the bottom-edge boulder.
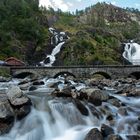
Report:
[[110,134],[114,134],[113,128],[111,128],[110,126],[106,124],[102,124],[101,132],[102,132],[103,137],[107,137]]

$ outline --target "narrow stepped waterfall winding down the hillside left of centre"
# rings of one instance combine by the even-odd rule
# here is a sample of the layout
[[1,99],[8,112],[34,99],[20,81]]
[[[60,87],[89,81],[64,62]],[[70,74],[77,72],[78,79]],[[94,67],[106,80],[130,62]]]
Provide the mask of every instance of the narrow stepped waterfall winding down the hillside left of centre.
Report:
[[50,67],[54,64],[56,60],[56,54],[61,50],[65,41],[69,38],[65,32],[58,32],[54,28],[49,28],[50,33],[53,35],[51,37],[51,45],[55,46],[50,55],[46,55],[46,58],[40,62],[41,66]]

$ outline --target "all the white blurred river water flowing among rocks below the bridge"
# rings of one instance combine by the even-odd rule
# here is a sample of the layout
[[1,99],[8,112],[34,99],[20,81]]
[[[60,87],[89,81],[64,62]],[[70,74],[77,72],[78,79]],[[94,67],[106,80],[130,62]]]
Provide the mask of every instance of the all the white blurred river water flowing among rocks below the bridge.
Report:
[[[89,115],[85,116],[80,113],[75,104],[68,98],[49,98],[51,92],[49,85],[59,83],[58,88],[62,90],[66,86],[64,77],[56,79],[44,78],[42,81],[45,82],[45,85],[38,86],[35,91],[25,92],[34,105],[30,114],[23,120],[16,121],[12,130],[8,134],[0,136],[0,140],[84,140],[86,134],[92,128],[100,130],[103,123],[111,125],[106,120],[107,114],[102,112],[103,107],[116,118],[112,125],[115,134],[121,135],[123,140],[127,140],[125,137],[127,134],[136,134],[136,114],[140,112],[139,98],[122,97],[113,95],[110,92],[110,95],[118,98],[127,107],[131,108],[127,116],[119,115],[118,108],[107,102],[103,102],[102,106],[96,108],[89,104],[94,111],[101,114],[98,118],[92,114],[93,110],[91,111],[88,103],[83,102],[89,112]],[[0,89],[7,89],[9,85],[17,85],[19,82],[20,80],[15,79],[10,82],[0,83]],[[77,91],[86,87],[84,83],[72,80],[69,80],[69,82],[76,87]]]

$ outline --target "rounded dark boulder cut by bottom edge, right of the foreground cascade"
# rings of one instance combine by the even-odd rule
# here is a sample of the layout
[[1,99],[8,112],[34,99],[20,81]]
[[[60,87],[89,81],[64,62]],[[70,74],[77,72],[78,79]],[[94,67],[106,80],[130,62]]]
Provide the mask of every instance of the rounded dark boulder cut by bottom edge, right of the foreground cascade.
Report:
[[93,128],[88,132],[84,140],[103,140],[103,136],[97,128]]

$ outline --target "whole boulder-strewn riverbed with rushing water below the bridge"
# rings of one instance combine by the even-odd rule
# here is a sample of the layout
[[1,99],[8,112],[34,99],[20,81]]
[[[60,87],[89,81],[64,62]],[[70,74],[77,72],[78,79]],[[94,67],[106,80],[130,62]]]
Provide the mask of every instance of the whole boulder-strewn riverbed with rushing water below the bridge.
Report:
[[140,140],[140,80],[0,80],[0,140]]

